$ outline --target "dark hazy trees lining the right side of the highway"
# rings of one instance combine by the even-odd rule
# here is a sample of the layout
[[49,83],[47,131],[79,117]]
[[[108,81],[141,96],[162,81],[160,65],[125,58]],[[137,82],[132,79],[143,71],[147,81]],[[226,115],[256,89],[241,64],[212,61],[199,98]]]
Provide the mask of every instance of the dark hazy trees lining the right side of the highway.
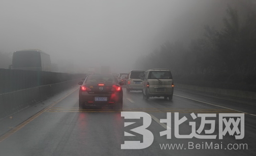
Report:
[[175,81],[193,85],[256,91],[256,13],[227,8],[223,28],[204,26],[204,35],[162,44],[137,60],[136,68],[168,68]]

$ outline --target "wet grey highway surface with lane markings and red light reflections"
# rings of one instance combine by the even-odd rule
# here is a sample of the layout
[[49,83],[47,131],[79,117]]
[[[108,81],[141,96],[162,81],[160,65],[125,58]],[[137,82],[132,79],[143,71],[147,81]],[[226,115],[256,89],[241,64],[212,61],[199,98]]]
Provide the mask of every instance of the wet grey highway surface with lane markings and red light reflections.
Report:
[[[108,108],[85,109],[78,108],[78,90],[70,90],[70,94],[63,95],[58,100],[51,102],[42,111],[34,111],[36,115],[13,128],[0,138],[0,155],[254,155],[255,148],[255,105],[251,100],[234,99],[228,97],[215,97],[211,94],[191,92],[175,89],[172,101],[164,98],[142,98],[140,91],[125,92],[123,87],[123,109],[113,110]],[[29,108],[31,109],[31,108]],[[32,108],[33,109],[33,108]],[[36,109],[36,108],[34,108]],[[38,109],[38,108],[37,108]],[[131,129],[143,125],[142,119],[124,119],[123,112],[146,112],[151,116],[152,122],[147,128],[153,133],[153,143],[145,149],[120,149],[124,141],[143,141],[143,136]],[[223,136],[218,139],[218,114],[219,113],[248,113],[245,114],[245,136],[236,140],[234,136]],[[33,112],[33,111],[31,111]],[[37,113],[38,112],[38,113]],[[159,132],[166,130],[165,123],[159,119],[166,119],[167,112],[172,113],[171,139],[160,136]],[[191,113],[215,113],[216,139],[181,139],[174,136],[174,113],[179,112],[179,119],[186,117],[188,120],[180,125],[179,134],[190,134],[189,122],[196,121],[196,129],[200,127],[201,119],[194,120]],[[26,110],[24,113],[28,114]],[[19,116],[24,116],[20,112]],[[15,118],[18,118],[15,117]],[[3,122],[0,125],[3,127]],[[124,122],[136,122],[124,127]],[[2,124],[1,124],[2,123]],[[176,126],[176,125],[175,125]],[[205,129],[210,129],[206,124]],[[1,128],[2,129],[2,128]],[[124,131],[135,136],[124,136]],[[204,132],[202,132],[204,133]],[[213,149],[205,149],[205,143],[212,142]],[[182,149],[161,149],[160,145],[180,144]],[[190,146],[188,146],[190,143]],[[194,146],[191,144],[193,143]],[[201,148],[196,149],[195,145]],[[227,149],[229,144],[247,144],[247,149]],[[214,149],[214,145],[222,149]],[[193,149],[188,149],[188,148]],[[230,146],[231,147],[231,146]],[[186,148],[186,149],[185,149]],[[226,148],[226,149],[225,149]]]

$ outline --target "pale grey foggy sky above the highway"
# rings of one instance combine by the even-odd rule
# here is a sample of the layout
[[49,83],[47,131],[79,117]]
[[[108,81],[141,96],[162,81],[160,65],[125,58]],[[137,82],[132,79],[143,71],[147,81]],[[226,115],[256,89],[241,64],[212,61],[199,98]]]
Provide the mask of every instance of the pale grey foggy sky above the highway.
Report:
[[[207,24],[202,13],[220,2],[214,1],[1,0],[0,51],[37,48],[53,63],[71,62],[86,69],[109,65],[112,72],[129,72],[139,56],[166,40],[200,34]],[[221,4],[216,14],[225,7]]]

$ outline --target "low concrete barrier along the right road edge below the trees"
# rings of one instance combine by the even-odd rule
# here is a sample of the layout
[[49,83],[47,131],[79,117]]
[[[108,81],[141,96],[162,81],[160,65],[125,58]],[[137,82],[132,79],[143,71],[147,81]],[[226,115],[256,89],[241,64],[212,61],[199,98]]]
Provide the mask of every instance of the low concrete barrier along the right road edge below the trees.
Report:
[[203,92],[216,93],[216,94],[227,95],[227,96],[235,96],[235,97],[241,97],[241,98],[256,99],[256,92],[251,92],[251,91],[210,88],[210,87],[201,87],[201,86],[178,84],[178,83],[175,84],[175,87],[183,88],[183,89],[203,91]]

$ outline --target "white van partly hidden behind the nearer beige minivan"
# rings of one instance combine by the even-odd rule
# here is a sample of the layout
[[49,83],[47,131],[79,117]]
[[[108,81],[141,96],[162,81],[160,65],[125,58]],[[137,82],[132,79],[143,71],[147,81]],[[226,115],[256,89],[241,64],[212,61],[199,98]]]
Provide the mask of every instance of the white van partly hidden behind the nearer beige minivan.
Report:
[[143,70],[132,70],[128,73],[126,92],[131,90],[142,90],[143,80],[142,77],[145,77],[145,71]]

